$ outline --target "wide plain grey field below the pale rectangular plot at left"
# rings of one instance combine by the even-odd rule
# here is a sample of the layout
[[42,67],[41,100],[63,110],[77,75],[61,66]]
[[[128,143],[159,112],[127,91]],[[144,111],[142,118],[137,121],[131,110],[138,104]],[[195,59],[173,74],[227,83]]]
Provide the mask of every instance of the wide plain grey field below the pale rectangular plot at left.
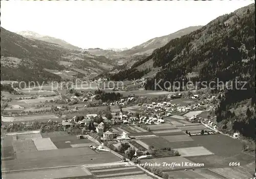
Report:
[[2,171],[98,164],[119,160],[108,151],[95,152],[89,147],[20,152],[16,153],[16,160],[2,160]]

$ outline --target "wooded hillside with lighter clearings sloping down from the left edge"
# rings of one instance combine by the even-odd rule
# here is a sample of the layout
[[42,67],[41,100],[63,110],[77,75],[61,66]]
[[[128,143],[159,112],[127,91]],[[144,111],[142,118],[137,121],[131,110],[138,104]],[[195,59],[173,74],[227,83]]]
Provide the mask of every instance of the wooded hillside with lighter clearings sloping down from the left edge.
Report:
[[1,27],[1,80],[38,81],[40,84],[42,81],[60,81],[61,77],[49,70],[65,70],[62,64],[100,73],[112,68],[112,60],[108,58],[25,38]]

